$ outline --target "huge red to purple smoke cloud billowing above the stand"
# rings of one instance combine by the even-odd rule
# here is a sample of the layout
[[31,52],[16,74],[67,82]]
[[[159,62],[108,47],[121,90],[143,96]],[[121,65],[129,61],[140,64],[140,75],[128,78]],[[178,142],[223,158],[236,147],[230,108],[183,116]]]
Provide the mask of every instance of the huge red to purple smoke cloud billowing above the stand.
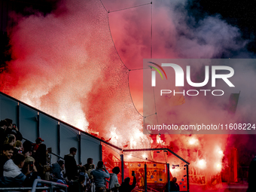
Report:
[[[165,135],[157,140],[142,134],[136,109],[142,113],[143,70],[133,69],[142,69],[142,59],[151,57],[151,6],[153,58],[212,58],[239,50],[245,45],[233,41],[239,30],[218,16],[187,26],[187,11],[182,4],[175,9],[177,2],[111,12],[136,5],[125,3],[103,1],[109,14],[93,0],[59,2],[45,17],[13,14],[17,26],[8,33],[12,59],[0,77],[1,90],[81,130],[99,132],[120,147],[167,146],[194,166],[201,159],[208,166],[221,163],[223,154],[215,153],[227,147],[225,135]],[[212,111],[212,118],[220,112]],[[196,142],[190,144],[191,138]]]

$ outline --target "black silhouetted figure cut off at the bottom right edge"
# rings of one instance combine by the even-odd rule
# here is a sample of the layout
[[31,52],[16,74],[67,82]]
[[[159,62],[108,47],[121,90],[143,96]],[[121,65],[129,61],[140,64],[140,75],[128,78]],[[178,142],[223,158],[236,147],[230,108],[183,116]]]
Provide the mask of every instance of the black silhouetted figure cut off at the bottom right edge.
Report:
[[256,157],[251,160],[248,170],[248,190],[247,192],[256,191]]

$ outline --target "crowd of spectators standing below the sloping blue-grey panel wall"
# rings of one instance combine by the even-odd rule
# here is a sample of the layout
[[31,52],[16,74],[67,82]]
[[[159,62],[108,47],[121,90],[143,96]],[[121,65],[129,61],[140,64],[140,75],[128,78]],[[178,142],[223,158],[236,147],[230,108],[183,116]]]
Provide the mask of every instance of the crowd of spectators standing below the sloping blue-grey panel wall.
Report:
[[92,158],[82,166],[75,160],[76,148],[70,148],[69,154],[51,164],[43,139],[37,138],[35,143],[22,141],[23,136],[11,119],[0,121],[0,187],[32,187],[36,178],[67,184],[70,192],[117,192],[120,187],[119,167],[109,174],[102,161],[95,167]]

